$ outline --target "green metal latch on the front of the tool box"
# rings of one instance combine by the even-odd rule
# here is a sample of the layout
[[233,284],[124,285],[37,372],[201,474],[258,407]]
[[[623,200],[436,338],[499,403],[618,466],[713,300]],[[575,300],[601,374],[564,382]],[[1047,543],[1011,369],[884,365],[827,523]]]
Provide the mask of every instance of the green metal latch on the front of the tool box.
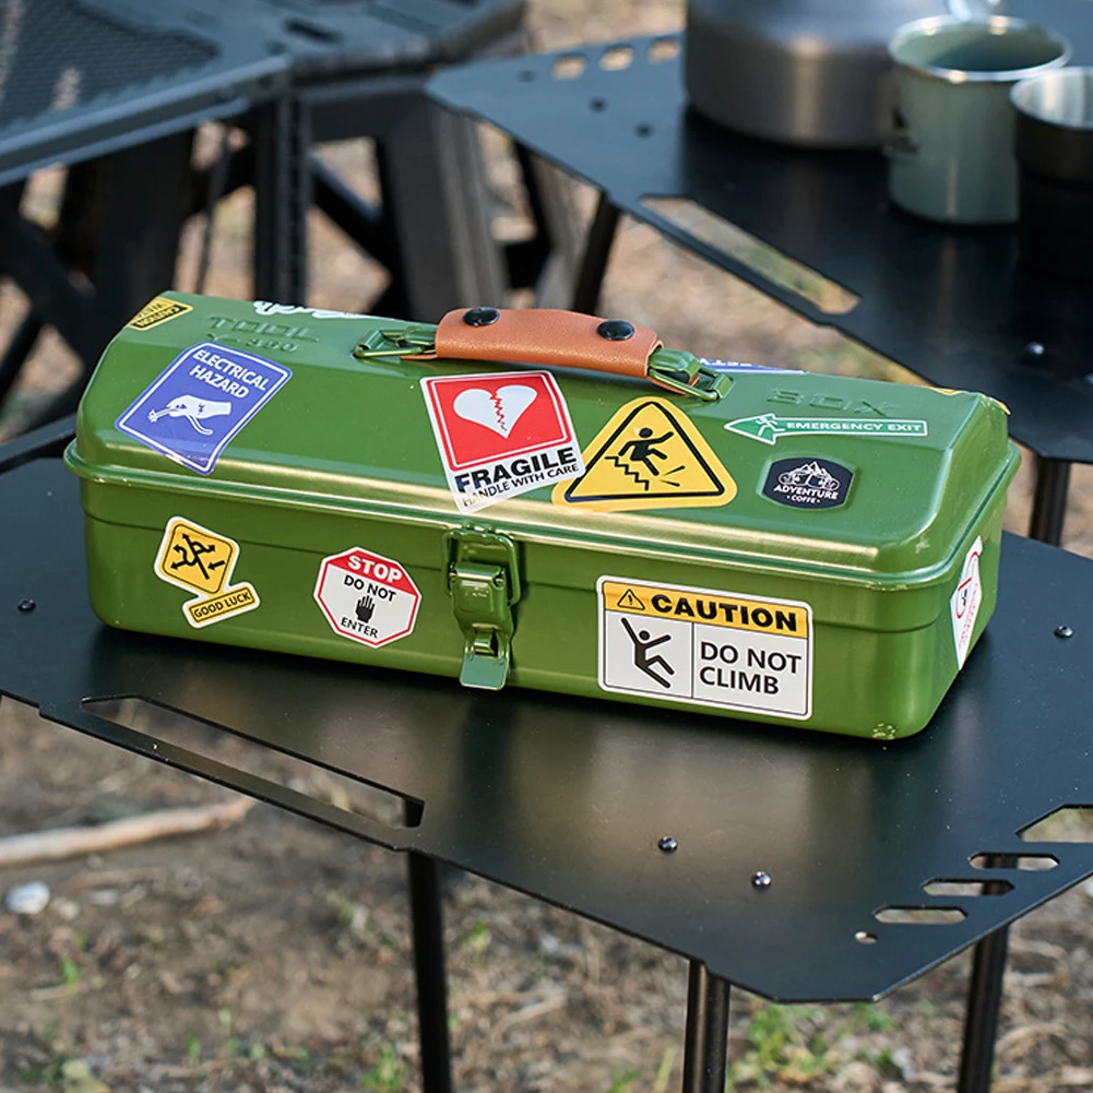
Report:
[[463,632],[463,686],[500,691],[508,678],[509,647],[520,598],[516,543],[484,527],[457,528],[444,537],[448,595]]

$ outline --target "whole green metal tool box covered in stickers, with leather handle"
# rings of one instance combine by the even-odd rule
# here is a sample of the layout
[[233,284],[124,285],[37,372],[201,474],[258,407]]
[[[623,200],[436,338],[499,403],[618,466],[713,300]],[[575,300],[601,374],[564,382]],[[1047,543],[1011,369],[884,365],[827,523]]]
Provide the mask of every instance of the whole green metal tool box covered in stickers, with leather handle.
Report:
[[995,607],[1006,412],[646,328],[167,293],[66,454],[120,626],[892,740]]

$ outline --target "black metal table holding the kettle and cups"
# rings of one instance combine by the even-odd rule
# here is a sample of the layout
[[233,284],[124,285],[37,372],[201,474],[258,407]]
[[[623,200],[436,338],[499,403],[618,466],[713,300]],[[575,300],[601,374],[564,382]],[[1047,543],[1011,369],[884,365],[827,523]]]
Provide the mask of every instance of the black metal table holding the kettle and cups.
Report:
[[[1093,63],[1089,0],[1009,0]],[[574,307],[595,312],[620,211],[940,387],[986,391],[1038,457],[1032,529],[1058,543],[1072,463],[1093,462],[1093,292],[1030,273],[1015,231],[952,230],[893,211],[873,152],[816,152],[734,136],[690,111],[677,36],[450,69],[440,103],[600,191]],[[704,242],[663,199],[694,202],[859,297],[824,310]],[[830,306],[830,305],[827,305]]]

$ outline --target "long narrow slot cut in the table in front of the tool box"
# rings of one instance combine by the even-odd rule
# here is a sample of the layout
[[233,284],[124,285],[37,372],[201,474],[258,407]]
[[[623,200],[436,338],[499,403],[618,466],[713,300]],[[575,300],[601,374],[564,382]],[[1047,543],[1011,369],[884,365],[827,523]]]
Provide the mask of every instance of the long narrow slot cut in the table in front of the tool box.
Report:
[[342,812],[366,816],[389,827],[418,827],[423,801],[320,763],[291,755],[190,714],[138,696],[84,698],[83,708],[160,743],[183,748],[243,774],[305,794]]

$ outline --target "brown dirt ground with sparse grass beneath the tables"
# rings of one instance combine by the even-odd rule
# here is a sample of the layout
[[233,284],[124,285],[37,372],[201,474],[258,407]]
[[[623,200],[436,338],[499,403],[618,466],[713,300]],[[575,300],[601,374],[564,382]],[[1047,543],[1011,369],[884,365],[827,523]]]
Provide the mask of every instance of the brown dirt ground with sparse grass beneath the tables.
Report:
[[[672,30],[666,0],[531,0],[539,48]],[[505,141],[483,134],[495,227],[526,231]],[[202,134],[201,154],[215,146]],[[326,150],[374,187],[367,142]],[[28,197],[48,223],[59,176]],[[589,195],[574,188],[587,215]],[[249,294],[250,199],[216,218],[207,290]],[[383,271],[316,218],[312,304],[354,308]],[[193,285],[202,224],[188,230],[178,286]],[[674,289],[663,291],[663,285]],[[0,290],[0,339],[25,303]],[[890,379],[902,369],[810,327],[747,285],[625,224],[604,310],[670,344],[765,364]],[[11,433],[74,368],[46,338],[0,422]],[[1027,467],[1008,526],[1029,513]],[[1093,502],[1080,472],[1067,545],[1093,554]],[[225,744],[224,747],[230,747]],[[336,800],[329,776],[266,756],[260,773]],[[232,797],[0,704],[0,836]],[[349,836],[257,806],[226,831],[49,866],[0,870],[0,892],[47,882],[34,917],[0,910],[0,1093],[334,1093],[416,1091],[403,862]],[[1093,1089],[1093,888],[1012,932],[998,1079],[1001,1093]],[[451,1035],[463,1091],[665,1093],[680,1082],[685,963],[562,910],[467,878],[446,900]],[[733,997],[732,1079],[742,1089],[931,1093],[954,1088],[967,955],[877,1006],[774,1007]]]

